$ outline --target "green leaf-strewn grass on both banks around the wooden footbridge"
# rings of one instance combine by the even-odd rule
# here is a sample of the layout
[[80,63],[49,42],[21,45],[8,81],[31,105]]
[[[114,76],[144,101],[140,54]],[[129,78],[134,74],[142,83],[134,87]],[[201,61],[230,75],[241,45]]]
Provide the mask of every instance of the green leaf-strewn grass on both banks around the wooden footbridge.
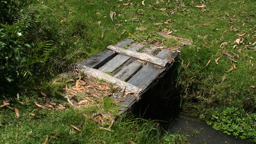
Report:
[[[192,111],[200,115],[201,118],[215,124],[215,128],[219,130],[230,129],[227,133],[255,142],[255,131],[250,131],[255,130],[256,122],[255,8],[252,6],[255,5],[255,1],[159,0],[144,1],[145,5],[141,2],[32,1],[31,6],[40,11],[40,22],[63,37],[63,40],[56,41],[70,47],[67,50],[68,57],[73,55],[75,50],[86,52],[86,55],[72,57],[73,62],[82,61],[127,37],[136,41],[159,41],[161,37],[156,34],[158,31],[168,31],[171,35],[194,41],[182,50],[177,61],[180,62],[177,87],[181,91],[182,109],[184,112]],[[206,6],[195,7],[201,5]],[[115,12],[114,22],[109,16],[111,11]],[[243,43],[234,43],[238,38],[243,40]],[[227,45],[221,46],[225,42]],[[166,41],[163,46],[165,44],[178,43]],[[59,52],[62,50],[63,47],[58,49]],[[233,63],[222,52],[230,53],[236,62]],[[215,60],[220,56],[222,57],[216,64]],[[211,61],[207,65],[209,60]],[[231,67],[234,68],[234,64],[236,69],[225,72]],[[33,100],[35,101],[35,98],[32,98]],[[20,119],[15,119],[14,113],[10,110],[1,109],[1,137],[5,137],[7,141],[13,140],[13,143],[22,140],[23,136],[29,136],[26,142],[38,143],[39,139],[50,134],[59,137],[50,139],[52,143],[61,143],[65,140],[70,143],[96,143],[95,140],[106,140],[109,143],[129,143],[129,140],[134,140],[136,143],[145,143],[150,140],[155,142],[157,139],[154,136],[156,133],[152,132],[154,124],[144,123],[143,120],[124,120],[113,125],[117,135],[99,130],[99,126],[90,122],[82,126],[84,132],[78,133],[70,128],[70,125],[79,125],[83,119],[78,110],[38,110],[38,113],[44,113],[47,117],[34,119],[28,115],[29,112],[37,111],[32,101],[25,106],[15,105],[23,111]],[[238,109],[236,117],[239,120],[225,116],[225,112],[230,109]],[[247,120],[243,119],[245,115],[249,115],[249,118],[246,117]],[[216,116],[221,119],[216,120]],[[226,120],[233,123],[225,124]],[[40,124],[52,124],[52,127]],[[240,124],[243,124],[243,130],[241,132],[239,129],[237,134],[238,129],[233,126]],[[125,134],[127,130],[132,132]],[[132,133],[138,133],[138,136]],[[148,137],[143,137],[148,133]]]

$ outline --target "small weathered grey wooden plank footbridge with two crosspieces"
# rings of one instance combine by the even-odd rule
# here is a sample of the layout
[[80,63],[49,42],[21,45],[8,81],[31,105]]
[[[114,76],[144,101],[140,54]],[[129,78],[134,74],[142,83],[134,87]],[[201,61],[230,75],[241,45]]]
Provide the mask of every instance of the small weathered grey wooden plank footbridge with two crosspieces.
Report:
[[180,49],[125,39],[87,61],[78,62],[75,67],[82,73],[122,88],[123,92],[117,92],[111,98],[119,101],[123,108],[118,113],[123,113],[171,68]]

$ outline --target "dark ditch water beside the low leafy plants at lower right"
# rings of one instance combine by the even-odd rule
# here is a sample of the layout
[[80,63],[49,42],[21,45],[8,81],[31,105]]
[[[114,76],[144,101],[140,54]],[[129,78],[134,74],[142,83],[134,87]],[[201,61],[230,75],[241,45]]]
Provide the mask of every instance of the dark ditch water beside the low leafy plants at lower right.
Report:
[[178,115],[177,118],[174,119],[171,127],[166,128],[168,128],[171,134],[178,133],[187,135],[190,143],[253,143],[243,139],[236,139],[234,136],[229,136],[228,134],[213,129],[210,125],[207,125],[206,122],[200,121],[198,118],[185,114]]

